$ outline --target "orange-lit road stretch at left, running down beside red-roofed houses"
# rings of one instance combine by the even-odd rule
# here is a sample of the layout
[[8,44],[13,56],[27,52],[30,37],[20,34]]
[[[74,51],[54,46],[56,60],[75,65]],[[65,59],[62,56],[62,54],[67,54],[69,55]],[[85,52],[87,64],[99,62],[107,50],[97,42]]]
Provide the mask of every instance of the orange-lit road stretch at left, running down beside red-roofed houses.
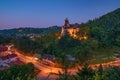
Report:
[[43,65],[39,61],[35,60],[33,57],[29,57],[29,56],[20,54],[18,51],[15,51],[15,53],[18,55],[18,57],[21,61],[23,61],[25,63],[32,62],[34,64],[34,66],[40,70],[40,73],[38,75],[40,78],[51,77],[51,80],[54,80],[53,78],[57,78],[57,76],[50,75],[50,73],[58,73],[59,71],[61,71],[60,68]]

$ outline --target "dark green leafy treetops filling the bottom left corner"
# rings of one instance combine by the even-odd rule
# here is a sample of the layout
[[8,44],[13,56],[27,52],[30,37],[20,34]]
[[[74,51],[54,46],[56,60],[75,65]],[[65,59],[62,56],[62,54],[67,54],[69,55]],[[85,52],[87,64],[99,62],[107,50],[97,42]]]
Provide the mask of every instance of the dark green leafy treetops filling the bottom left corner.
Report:
[[13,65],[0,71],[0,80],[34,80],[35,77],[35,69],[32,63]]

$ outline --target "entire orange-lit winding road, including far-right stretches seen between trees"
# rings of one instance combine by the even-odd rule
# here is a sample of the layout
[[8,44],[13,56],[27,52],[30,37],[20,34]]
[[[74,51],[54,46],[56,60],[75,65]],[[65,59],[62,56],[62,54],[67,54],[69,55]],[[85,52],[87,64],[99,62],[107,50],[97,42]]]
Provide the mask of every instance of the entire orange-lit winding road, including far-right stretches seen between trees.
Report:
[[[29,57],[29,56],[23,55],[23,54],[19,53],[17,50],[15,50],[15,53],[18,55],[18,57],[21,61],[23,61],[25,63],[31,62],[31,63],[34,64],[34,66],[38,70],[40,70],[40,73],[38,75],[40,80],[42,80],[42,78],[45,79],[46,77],[50,77],[51,73],[58,74],[59,71],[62,71],[61,68],[56,68],[56,67],[44,65],[44,64],[40,63],[39,61],[37,61],[35,59],[35,57]],[[108,67],[109,65],[120,66],[120,59],[117,59],[116,61],[113,61],[113,62],[108,62],[108,63],[103,63],[102,64],[103,68]],[[95,68],[96,66],[99,66],[99,64],[91,65],[92,68]],[[69,70],[69,72],[71,72],[71,74],[75,74],[76,71],[77,71],[76,69],[72,69],[72,70],[70,69]],[[55,80],[56,78],[57,78],[57,76],[53,76],[51,79],[46,79],[46,80]]]

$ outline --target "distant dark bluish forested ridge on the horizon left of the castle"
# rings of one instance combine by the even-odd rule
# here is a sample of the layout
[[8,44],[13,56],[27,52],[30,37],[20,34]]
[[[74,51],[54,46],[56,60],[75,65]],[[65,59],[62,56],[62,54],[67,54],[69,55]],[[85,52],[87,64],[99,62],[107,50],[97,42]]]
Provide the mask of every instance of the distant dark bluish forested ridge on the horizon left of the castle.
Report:
[[48,34],[51,32],[60,32],[61,27],[52,26],[48,28],[14,28],[0,30],[0,34],[4,35],[16,35],[16,34]]

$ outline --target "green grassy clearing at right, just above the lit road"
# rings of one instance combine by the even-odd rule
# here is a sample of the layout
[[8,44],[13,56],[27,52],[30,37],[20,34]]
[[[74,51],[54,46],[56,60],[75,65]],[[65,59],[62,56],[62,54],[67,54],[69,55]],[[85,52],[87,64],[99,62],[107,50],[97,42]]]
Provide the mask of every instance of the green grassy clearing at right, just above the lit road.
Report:
[[88,64],[107,63],[116,60],[113,55],[120,54],[120,47],[113,46],[112,48],[102,48],[92,53],[92,59],[88,61]]

